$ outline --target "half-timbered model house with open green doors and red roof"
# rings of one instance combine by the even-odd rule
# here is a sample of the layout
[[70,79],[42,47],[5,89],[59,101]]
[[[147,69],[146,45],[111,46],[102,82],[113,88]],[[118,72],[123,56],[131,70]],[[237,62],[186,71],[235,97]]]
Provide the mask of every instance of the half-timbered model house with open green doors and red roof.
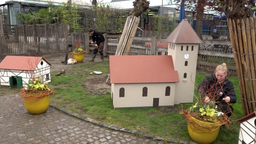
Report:
[[43,57],[6,56],[0,63],[0,84],[26,86],[31,78],[41,77],[43,82],[50,82],[51,64]]

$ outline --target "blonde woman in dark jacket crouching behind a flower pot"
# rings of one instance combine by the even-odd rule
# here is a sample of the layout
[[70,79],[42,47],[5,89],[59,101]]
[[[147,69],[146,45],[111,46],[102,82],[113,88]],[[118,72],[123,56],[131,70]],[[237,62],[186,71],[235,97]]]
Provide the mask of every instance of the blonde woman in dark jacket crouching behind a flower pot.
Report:
[[236,92],[233,83],[227,78],[227,71],[226,63],[218,65],[215,73],[205,77],[198,85],[198,92],[204,97],[205,103],[214,100],[220,111],[230,117],[233,108],[229,104],[236,103]]

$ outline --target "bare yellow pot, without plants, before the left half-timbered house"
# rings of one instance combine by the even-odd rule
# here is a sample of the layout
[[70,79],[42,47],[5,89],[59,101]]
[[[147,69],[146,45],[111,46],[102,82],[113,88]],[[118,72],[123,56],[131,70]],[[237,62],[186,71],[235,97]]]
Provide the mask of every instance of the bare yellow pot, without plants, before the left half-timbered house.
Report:
[[44,96],[40,100],[34,100],[31,98],[23,98],[25,108],[30,114],[42,114],[49,107],[50,95]]

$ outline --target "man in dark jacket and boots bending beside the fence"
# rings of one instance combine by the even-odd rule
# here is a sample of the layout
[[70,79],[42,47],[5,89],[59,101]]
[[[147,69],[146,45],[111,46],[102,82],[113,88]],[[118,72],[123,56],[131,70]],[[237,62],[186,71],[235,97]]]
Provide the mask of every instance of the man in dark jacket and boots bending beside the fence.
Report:
[[93,62],[97,55],[97,52],[99,52],[100,53],[100,61],[99,62],[102,62],[104,60],[103,48],[104,48],[105,38],[101,32],[99,32],[97,30],[93,30],[92,28],[89,28],[89,33],[92,36],[91,44],[94,44],[95,41],[96,41],[96,44],[95,44],[95,49],[93,50],[93,53],[92,53],[92,59],[88,60],[88,61]]

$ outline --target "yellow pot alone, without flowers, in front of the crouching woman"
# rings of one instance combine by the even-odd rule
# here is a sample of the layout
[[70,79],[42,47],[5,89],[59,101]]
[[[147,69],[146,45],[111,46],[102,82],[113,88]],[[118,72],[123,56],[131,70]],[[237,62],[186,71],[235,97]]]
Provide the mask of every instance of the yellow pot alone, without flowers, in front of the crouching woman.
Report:
[[220,131],[219,122],[208,123],[195,119],[194,117],[188,117],[188,134],[190,138],[199,144],[210,144],[218,136]]

